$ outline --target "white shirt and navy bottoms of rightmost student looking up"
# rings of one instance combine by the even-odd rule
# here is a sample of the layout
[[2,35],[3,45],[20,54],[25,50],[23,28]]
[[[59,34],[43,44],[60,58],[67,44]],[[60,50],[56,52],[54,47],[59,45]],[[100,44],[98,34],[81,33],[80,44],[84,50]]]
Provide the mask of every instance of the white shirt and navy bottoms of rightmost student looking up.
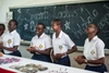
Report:
[[[90,41],[88,38],[86,38],[83,53],[87,60],[98,60],[100,58],[105,58],[104,48],[104,41],[97,36],[95,36]],[[107,72],[107,68],[105,64],[87,63],[85,70],[96,71],[100,73]]]

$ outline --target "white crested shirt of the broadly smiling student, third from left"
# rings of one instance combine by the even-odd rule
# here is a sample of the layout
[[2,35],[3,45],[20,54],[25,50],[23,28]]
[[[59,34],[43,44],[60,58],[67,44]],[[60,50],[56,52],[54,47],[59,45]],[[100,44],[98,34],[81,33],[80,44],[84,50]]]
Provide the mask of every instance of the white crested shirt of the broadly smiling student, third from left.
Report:
[[36,35],[35,37],[32,38],[31,46],[36,47],[36,49],[38,49],[38,50],[46,50],[46,49],[52,47],[51,38],[48,35],[46,35],[45,33],[43,33],[39,38]]

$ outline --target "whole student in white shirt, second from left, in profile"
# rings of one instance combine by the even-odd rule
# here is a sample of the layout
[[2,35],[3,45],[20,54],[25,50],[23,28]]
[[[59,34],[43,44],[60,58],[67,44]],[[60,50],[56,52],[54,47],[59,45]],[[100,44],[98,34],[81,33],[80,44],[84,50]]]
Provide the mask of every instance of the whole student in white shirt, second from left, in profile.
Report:
[[21,52],[17,50],[21,41],[21,37],[16,32],[17,22],[15,20],[11,20],[8,24],[9,32],[4,34],[2,39],[2,44],[0,44],[0,48],[3,49],[5,54],[12,54],[21,57]]

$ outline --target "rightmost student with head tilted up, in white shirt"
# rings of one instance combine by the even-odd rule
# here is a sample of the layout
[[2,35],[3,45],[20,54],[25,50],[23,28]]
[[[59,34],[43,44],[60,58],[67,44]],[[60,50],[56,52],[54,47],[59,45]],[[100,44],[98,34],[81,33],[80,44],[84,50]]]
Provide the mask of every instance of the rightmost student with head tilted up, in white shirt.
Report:
[[75,61],[78,64],[86,63],[85,70],[96,71],[96,72],[107,72],[105,65],[105,44],[98,38],[99,27],[95,24],[89,24],[85,29],[88,38],[85,40],[84,45],[84,56],[75,57]]

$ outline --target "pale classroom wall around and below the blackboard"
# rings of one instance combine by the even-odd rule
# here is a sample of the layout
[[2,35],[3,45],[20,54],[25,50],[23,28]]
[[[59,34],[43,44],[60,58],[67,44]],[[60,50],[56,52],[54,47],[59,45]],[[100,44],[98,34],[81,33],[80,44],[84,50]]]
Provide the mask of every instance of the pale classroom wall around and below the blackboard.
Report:
[[[9,12],[10,7],[26,7],[26,5],[37,5],[37,4],[48,4],[48,3],[60,3],[60,2],[90,2],[90,1],[104,1],[104,0],[0,0],[0,23],[5,23],[5,13]],[[7,24],[5,24],[7,25]],[[31,58],[32,54],[27,52],[25,49],[28,46],[21,45],[20,51],[22,52],[23,57]],[[74,68],[82,68],[84,69],[85,64],[78,65],[73,58],[75,56],[80,56],[82,52],[76,51],[70,54],[71,64]],[[109,56],[106,56],[106,65],[109,71]]]

